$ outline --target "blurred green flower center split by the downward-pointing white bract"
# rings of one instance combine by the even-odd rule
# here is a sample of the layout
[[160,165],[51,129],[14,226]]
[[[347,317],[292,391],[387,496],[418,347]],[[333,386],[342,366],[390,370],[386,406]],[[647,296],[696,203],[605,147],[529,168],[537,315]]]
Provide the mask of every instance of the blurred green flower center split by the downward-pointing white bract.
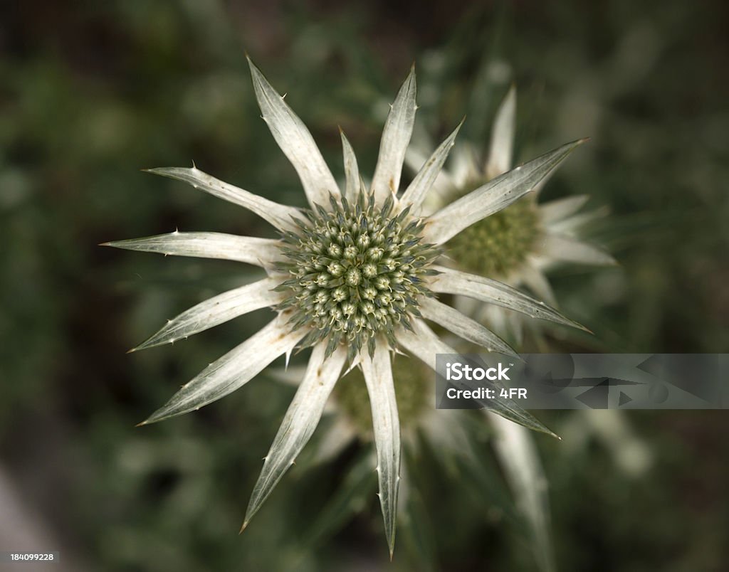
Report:
[[[404,356],[392,360],[392,380],[401,427],[410,427],[432,408],[432,391],[426,382],[426,369],[420,362]],[[362,370],[353,369],[334,386],[334,398],[340,410],[354,425],[357,434],[372,436],[372,410]]]

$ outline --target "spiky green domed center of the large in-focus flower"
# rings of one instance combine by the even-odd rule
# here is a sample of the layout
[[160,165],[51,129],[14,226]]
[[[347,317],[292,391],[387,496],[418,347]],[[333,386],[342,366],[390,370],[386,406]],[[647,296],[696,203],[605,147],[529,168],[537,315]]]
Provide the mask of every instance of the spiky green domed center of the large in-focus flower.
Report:
[[305,211],[298,232],[284,233],[279,270],[291,278],[278,290],[291,296],[277,309],[294,310],[294,329],[310,329],[302,347],[326,339],[329,356],[345,343],[351,360],[365,345],[373,354],[378,334],[394,347],[394,329],[420,316],[418,297],[432,295],[423,276],[433,273],[438,251],[421,243],[423,224],[409,208],[392,215],[391,198],[378,207],[360,192],[354,204],[330,203],[330,211]]

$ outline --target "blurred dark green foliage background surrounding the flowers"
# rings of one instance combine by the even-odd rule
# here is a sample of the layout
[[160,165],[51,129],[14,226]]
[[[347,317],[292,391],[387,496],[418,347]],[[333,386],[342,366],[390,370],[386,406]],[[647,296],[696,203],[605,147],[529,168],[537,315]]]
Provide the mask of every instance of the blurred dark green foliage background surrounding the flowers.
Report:
[[[729,344],[727,22],[719,2],[4,4],[0,549],[39,538],[63,552],[59,570],[386,565],[370,549],[381,517],[367,444],[327,463],[301,458],[257,526],[235,534],[293,395],[273,372],[197,415],[132,428],[269,316],[125,356],[241,270],[95,245],[175,227],[273,236],[253,215],[136,169],[195,159],[303,205],[258,118],[243,46],[296,95],[332,168],[341,125],[372,172],[386,103],[413,60],[418,122],[431,118],[435,140],[466,111],[459,139],[488,141],[517,85],[515,157],[590,136],[542,199],[588,194],[609,206],[585,239],[620,261],[550,274],[563,313],[595,336],[545,332],[547,347],[717,352]],[[628,429],[599,413],[540,415],[563,437],[536,438],[558,569],[720,570],[722,412],[639,412]],[[400,530],[387,569],[534,569],[493,431],[476,420],[468,439],[486,452],[480,464],[444,462],[445,447],[421,447],[417,471],[406,461],[421,526]]]

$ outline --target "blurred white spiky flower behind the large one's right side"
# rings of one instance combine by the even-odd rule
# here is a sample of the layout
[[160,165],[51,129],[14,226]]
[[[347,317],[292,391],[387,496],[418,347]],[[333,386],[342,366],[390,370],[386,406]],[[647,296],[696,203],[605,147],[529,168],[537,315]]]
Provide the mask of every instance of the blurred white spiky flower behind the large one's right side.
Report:
[[[511,87],[496,112],[488,152],[478,152],[469,144],[453,149],[451,168],[438,174],[425,213],[440,210],[512,168],[515,117],[516,90]],[[425,157],[411,147],[406,160],[417,171]],[[547,179],[548,176],[544,177],[523,200],[454,235],[446,244],[452,265],[510,286],[526,286],[539,299],[555,305],[555,295],[546,276],[551,268],[562,263],[617,264],[607,252],[580,238],[582,227],[604,215],[604,211],[580,212],[588,195],[538,203],[539,192]],[[497,332],[512,329],[518,334],[521,329],[521,318],[501,307],[479,305],[462,298],[455,304],[468,316],[491,324]]]

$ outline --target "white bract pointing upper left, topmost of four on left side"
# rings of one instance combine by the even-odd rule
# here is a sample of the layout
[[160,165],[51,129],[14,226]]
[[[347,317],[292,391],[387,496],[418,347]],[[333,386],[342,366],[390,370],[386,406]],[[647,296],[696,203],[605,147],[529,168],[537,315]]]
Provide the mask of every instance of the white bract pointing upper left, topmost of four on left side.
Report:
[[196,167],[160,167],[147,169],[147,173],[177,179],[191,184],[195,189],[202,189],[215,197],[228,200],[236,205],[241,205],[249,211],[256,213],[265,221],[270,222],[278,230],[294,230],[296,224],[294,219],[301,219],[301,212],[298,208],[286,205],[279,205],[273,200],[268,200],[252,192],[248,192],[232,184],[227,184],[208,173],[203,173]]

